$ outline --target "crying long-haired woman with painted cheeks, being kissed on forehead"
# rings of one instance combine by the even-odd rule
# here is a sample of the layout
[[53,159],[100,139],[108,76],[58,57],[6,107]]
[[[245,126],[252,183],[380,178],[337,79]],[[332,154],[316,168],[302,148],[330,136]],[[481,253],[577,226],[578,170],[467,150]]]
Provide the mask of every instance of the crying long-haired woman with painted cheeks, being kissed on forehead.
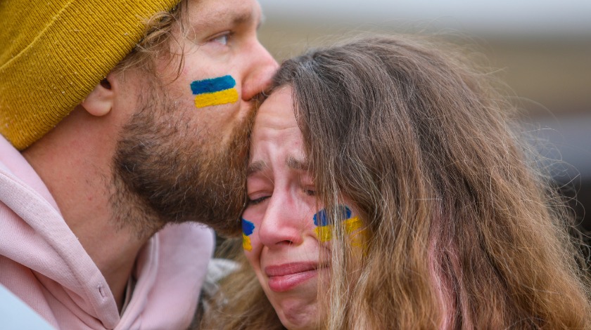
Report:
[[[566,212],[490,75],[365,37],[288,60],[212,329],[591,329]],[[253,271],[254,270],[254,271]]]

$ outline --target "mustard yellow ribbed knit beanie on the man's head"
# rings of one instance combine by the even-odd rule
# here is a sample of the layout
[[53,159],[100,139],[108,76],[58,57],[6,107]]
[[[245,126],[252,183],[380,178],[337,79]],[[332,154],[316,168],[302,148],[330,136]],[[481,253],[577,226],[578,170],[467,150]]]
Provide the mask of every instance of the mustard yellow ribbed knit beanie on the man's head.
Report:
[[179,0],[1,0],[0,133],[23,150],[55,127]]

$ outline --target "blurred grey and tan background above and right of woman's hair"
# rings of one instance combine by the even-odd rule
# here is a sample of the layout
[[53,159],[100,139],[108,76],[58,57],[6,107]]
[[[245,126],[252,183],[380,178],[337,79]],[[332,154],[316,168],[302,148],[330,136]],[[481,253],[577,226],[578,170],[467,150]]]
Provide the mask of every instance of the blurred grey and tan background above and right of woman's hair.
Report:
[[350,32],[461,35],[476,44],[519,96],[545,156],[563,161],[553,176],[591,230],[591,1],[259,1],[259,39],[278,61]]

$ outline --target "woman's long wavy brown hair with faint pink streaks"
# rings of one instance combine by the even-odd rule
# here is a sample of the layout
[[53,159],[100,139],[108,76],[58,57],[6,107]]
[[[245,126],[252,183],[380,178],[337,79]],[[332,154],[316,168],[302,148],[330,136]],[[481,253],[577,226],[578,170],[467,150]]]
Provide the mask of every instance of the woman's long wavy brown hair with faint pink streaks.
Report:
[[[359,272],[331,251],[327,329],[591,328],[564,203],[490,74],[440,43],[373,36],[287,60],[279,86],[319,199],[348,197],[367,225]],[[228,279],[213,328],[273,319],[260,287],[237,284],[252,279]]]

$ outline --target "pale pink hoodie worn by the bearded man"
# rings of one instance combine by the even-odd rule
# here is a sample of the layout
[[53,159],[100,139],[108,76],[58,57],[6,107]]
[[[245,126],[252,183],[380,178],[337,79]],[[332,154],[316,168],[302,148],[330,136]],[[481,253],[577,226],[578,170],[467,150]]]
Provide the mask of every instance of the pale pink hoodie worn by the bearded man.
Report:
[[58,329],[186,329],[213,251],[212,230],[169,225],[140,251],[122,316],[49,190],[0,136],[0,283]]

